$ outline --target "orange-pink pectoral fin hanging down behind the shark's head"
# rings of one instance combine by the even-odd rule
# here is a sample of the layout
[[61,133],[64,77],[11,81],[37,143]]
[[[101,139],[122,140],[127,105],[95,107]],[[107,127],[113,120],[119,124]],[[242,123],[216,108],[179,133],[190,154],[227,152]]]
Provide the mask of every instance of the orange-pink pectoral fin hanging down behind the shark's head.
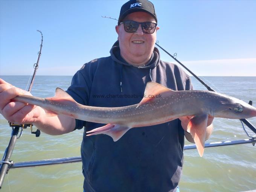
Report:
[[200,157],[204,154],[207,120],[208,114],[201,114],[192,117],[187,125],[187,132],[192,135]]

